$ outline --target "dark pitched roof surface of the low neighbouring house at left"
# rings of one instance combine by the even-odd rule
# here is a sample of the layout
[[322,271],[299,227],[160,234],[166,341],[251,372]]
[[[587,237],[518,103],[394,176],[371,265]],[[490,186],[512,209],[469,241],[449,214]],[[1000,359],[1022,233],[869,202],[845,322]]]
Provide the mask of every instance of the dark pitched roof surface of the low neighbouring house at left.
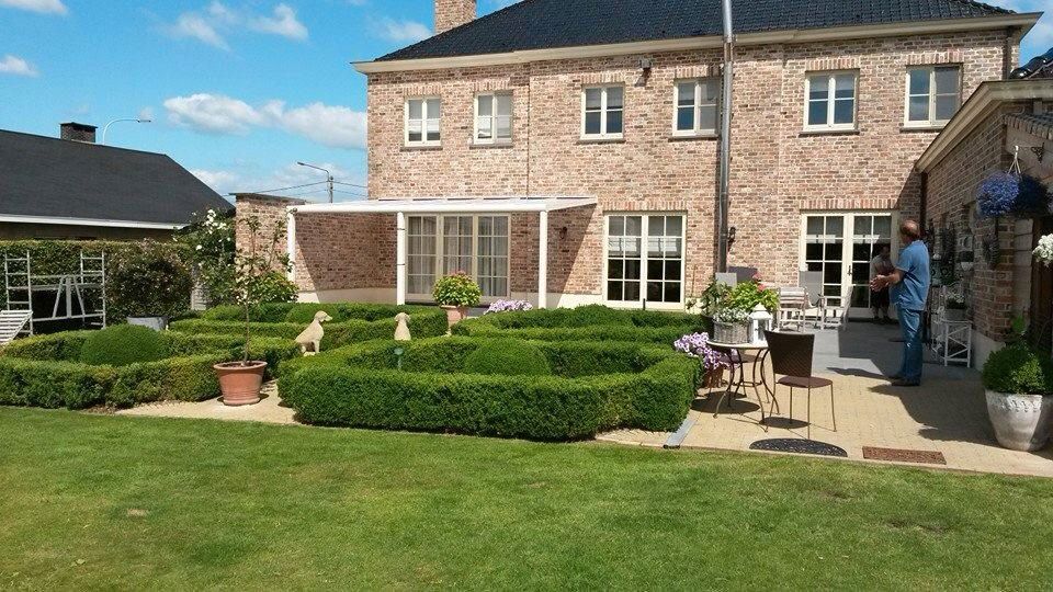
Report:
[[0,215],[176,225],[229,207],[166,155],[0,129]]

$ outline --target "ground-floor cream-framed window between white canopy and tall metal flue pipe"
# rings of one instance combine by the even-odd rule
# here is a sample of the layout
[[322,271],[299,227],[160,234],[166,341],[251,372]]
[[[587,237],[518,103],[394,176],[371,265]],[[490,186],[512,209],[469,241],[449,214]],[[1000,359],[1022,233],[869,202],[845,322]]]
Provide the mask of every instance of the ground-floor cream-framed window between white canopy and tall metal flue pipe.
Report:
[[605,225],[607,301],[682,305],[683,215],[610,214]]

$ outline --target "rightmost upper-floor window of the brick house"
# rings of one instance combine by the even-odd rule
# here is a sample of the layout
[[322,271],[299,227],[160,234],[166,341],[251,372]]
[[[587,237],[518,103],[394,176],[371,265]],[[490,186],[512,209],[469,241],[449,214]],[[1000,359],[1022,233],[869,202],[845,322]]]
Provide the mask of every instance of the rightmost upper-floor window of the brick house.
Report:
[[919,66],[907,69],[905,125],[939,127],[962,106],[961,66]]

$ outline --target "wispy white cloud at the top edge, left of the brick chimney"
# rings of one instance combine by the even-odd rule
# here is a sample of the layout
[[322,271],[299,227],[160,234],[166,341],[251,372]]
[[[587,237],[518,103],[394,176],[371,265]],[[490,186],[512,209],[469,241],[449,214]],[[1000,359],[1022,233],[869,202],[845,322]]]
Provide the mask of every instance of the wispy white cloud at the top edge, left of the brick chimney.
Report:
[[276,4],[267,15],[254,14],[248,9],[233,9],[219,0],[213,0],[204,10],[180,14],[166,31],[173,37],[197,39],[220,49],[229,49],[227,37],[241,31],[296,41],[304,41],[309,35],[304,23],[296,18],[296,11],[288,4]]

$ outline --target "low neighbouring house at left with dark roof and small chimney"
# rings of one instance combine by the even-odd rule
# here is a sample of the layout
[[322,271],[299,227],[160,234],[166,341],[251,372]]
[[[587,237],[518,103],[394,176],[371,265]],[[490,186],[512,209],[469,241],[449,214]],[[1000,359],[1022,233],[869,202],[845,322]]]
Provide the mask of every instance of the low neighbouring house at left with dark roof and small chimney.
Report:
[[168,239],[230,203],[166,155],[99,146],[90,125],[61,138],[0,130],[0,240]]

